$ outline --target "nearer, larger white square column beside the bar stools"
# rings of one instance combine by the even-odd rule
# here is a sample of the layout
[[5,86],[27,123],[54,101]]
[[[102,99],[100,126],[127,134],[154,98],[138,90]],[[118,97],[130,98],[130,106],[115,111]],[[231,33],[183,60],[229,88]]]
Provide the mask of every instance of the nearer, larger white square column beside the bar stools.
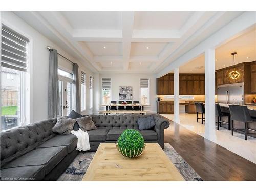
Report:
[[215,141],[215,50],[205,51],[205,134]]

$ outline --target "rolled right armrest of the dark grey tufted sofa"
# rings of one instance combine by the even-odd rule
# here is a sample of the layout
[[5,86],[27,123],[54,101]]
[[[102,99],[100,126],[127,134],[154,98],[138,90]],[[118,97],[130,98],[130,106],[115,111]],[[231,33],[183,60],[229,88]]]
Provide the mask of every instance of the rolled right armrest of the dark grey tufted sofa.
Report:
[[158,143],[163,148],[164,145],[164,129],[168,128],[170,123],[169,120],[165,117],[162,117],[160,115],[154,116],[156,126],[154,128],[154,131],[158,135]]

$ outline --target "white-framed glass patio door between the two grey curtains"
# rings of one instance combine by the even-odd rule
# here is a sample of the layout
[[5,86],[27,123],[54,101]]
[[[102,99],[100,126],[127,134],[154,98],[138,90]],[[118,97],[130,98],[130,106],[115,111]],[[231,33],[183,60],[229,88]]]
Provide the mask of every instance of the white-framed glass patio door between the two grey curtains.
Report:
[[62,116],[68,116],[72,109],[72,79],[59,76],[59,98]]

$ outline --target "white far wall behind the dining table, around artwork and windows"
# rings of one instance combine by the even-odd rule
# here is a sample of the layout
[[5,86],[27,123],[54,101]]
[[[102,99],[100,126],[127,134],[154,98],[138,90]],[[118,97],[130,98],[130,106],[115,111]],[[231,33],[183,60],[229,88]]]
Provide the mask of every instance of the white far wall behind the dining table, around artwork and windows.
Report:
[[111,78],[111,100],[118,101],[119,86],[133,86],[133,100],[140,101],[140,78],[150,78],[150,106],[145,110],[156,113],[155,74],[99,74],[100,103],[102,103],[102,78]]

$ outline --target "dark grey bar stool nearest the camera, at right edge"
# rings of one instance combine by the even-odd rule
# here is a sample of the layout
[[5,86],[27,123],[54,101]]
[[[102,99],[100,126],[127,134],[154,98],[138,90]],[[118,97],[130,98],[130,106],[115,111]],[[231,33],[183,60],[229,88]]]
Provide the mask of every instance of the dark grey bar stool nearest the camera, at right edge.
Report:
[[[244,131],[245,140],[247,140],[248,130],[255,132],[255,130],[248,128],[248,124],[252,122],[256,122],[256,118],[253,118],[250,116],[247,106],[229,105],[229,111],[231,114],[231,121],[232,121],[232,126],[231,126],[232,135],[234,135],[234,130]],[[244,129],[234,128],[234,121],[243,122]],[[249,134],[255,135],[256,133],[249,133]]]

